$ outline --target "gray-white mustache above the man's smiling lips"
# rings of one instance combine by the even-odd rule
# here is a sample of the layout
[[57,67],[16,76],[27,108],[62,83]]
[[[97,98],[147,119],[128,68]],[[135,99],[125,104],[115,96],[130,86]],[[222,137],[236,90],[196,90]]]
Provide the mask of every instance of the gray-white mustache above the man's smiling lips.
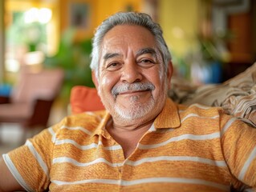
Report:
[[134,82],[124,83],[122,85],[116,85],[112,88],[112,94],[115,96],[126,91],[137,91],[137,90],[155,90],[155,86],[152,82]]

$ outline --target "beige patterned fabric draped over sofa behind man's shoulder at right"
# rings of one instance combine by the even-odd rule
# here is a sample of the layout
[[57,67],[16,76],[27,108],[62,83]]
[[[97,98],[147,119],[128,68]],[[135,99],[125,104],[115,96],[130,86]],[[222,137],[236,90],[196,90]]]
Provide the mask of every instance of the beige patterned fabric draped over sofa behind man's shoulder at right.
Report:
[[241,118],[256,127],[256,62],[246,71],[221,84],[180,85],[183,90],[177,88],[177,81],[174,80],[172,84],[173,90],[169,92],[169,96],[175,102],[185,105],[197,102],[206,106],[221,106],[227,114]]

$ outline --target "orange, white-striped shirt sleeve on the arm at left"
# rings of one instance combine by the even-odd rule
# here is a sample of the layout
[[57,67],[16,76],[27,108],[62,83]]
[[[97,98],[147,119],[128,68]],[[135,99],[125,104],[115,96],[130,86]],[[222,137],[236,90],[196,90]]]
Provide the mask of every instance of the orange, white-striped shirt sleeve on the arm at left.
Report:
[[2,155],[6,166],[25,190],[47,190],[50,183],[51,154],[59,126],[43,130],[34,138],[26,140],[25,145]]

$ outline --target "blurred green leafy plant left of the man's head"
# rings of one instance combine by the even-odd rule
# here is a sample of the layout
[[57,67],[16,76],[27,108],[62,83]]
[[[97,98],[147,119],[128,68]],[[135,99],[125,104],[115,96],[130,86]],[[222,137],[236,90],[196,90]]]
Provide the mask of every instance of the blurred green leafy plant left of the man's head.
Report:
[[65,71],[61,97],[69,99],[73,86],[83,85],[94,87],[91,80],[90,54],[91,38],[75,42],[75,30],[66,30],[59,42],[59,50],[53,57],[46,57],[44,67],[61,68]]

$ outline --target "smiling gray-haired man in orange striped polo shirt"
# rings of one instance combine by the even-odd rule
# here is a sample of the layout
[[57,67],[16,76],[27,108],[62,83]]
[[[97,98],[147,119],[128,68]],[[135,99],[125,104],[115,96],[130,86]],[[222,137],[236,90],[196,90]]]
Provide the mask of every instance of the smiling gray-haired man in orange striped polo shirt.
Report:
[[107,110],[64,118],[4,154],[1,191],[256,189],[256,130],[167,97],[171,57],[147,14],[105,20],[91,69]]

